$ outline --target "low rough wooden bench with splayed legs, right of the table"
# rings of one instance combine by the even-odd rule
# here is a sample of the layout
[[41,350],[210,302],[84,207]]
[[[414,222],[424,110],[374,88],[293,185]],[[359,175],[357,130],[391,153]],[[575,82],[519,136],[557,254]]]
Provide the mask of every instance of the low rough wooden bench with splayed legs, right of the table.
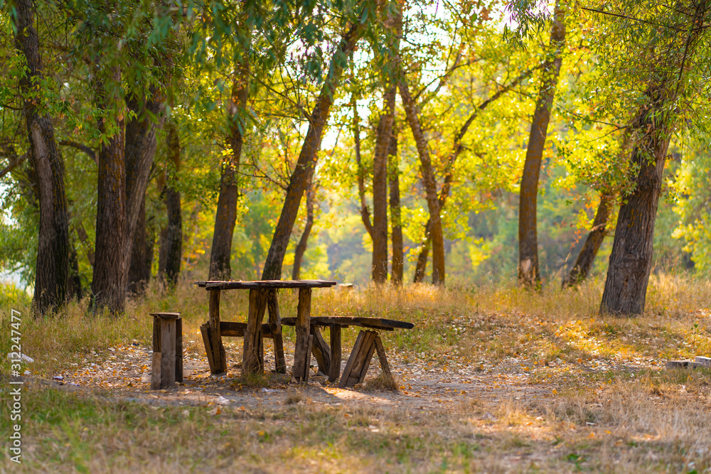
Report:
[[[296,318],[284,318],[282,319],[282,324],[295,325]],[[325,326],[328,326],[331,333],[330,349],[319,330],[319,327]],[[380,368],[383,370],[383,375],[392,378],[390,366],[387,365],[387,357],[385,357],[385,348],[383,348],[383,342],[380,340],[378,330],[412,329],[415,325],[405,321],[383,318],[349,318],[343,316],[311,318],[310,333],[313,340],[311,351],[314,352],[316,362],[319,364],[319,371],[328,374],[328,382],[336,382],[341,372],[341,328],[348,328],[348,326],[359,326],[367,328],[367,330],[361,330],[358,333],[358,338],[355,339],[351,356],[348,357],[348,362],[346,362],[346,368],[343,370],[338,387],[353,387],[353,385],[363,382],[370,366],[370,360],[373,358],[374,350],[378,352],[378,361],[380,362]],[[308,365],[307,362],[307,371]]]

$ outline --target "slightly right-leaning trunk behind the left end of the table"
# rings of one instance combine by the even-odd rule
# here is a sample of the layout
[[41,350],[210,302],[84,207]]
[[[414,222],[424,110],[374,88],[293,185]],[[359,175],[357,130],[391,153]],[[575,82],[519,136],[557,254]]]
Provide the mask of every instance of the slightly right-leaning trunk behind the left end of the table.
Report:
[[228,141],[232,154],[222,163],[220,173],[220,195],[218,208],[215,212],[215,232],[213,232],[213,247],[210,250],[210,280],[229,280],[232,276],[230,255],[232,254],[232,235],[237,221],[237,171],[240,169],[242,142],[245,132],[245,108],[249,92],[250,64],[247,56],[240,64],[240,77],[232,81],[232,97],[230,99],[230,136]]

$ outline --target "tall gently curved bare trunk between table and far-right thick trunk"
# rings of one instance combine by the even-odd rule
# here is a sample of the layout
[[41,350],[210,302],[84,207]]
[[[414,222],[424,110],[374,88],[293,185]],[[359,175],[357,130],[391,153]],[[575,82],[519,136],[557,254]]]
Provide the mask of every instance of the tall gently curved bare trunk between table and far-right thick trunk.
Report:
[[565,44],[565,4],[556,1],[553,26],[550,32],[549,59],[543,66],[543,78],[536,102],[528,149],[523,165],[518,206],[518,284],[527,289],[540,287],[538,269],[538,231],[536,208],[538,200],[538,176],[543,156],[543,146],[550,121],[550,111],[558,84],[562,50]]

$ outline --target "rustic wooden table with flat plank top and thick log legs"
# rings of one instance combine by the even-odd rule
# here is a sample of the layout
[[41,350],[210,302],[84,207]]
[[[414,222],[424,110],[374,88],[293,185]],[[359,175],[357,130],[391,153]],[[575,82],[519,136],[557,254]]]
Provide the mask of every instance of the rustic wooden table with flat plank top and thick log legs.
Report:
[[[299,306],[296,308],[296,345],[292,375],[297,380],[308,379],[309,330],[311,328],[311,289],[336,285],[327,280],[260,280],[260,281],[196,281],[196,286],[209,294],[209,317],[205,326],[207,337],[205,352],[208,353],[210,372],[221,374],[227,370],[227,358],[220,331],[220,293],[224,290],[249,290],[250,309],[247,313],[245,345],[242,350],[242,374],[255,374],[263,369],[260,362],[262,353],[262,320],[264,311],[269,309],[269,329],[274,338],[274,352],[277,372],[286,372],[284,344],[282,342],[282,321],[277,301],[278,289],[299,289]],[[203,325],[204,326],[204,325]],[[202,328],[201,328],[202,329]],[[209,346],[208,347],[208,343]]]

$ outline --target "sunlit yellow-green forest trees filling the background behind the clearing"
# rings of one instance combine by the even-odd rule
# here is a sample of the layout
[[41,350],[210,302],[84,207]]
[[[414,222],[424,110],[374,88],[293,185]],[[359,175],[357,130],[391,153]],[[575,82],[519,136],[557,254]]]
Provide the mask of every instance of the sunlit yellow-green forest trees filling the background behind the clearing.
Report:
[[[537,286],[521,274],[526,200],[536,271],[558,286],[640,189],[656,151],[634,150],[651,129],[668,150],[649,269],[710,269],[705,2],[4,3],[0,267],[37,291],[52,190],[46,226],[64,226],[66,246],[48,254],[67,257],[48,278],[67,286],[41,284],[40,308],[92,294],[120,310],[109,286],[140,293],[155,276],[429,280],[432,185],[435,283]],[[650,85],[673,80],[649,112]],[[546,111],[532,197],[521,187]],[[33,121],[49,127],[46,175]]]

